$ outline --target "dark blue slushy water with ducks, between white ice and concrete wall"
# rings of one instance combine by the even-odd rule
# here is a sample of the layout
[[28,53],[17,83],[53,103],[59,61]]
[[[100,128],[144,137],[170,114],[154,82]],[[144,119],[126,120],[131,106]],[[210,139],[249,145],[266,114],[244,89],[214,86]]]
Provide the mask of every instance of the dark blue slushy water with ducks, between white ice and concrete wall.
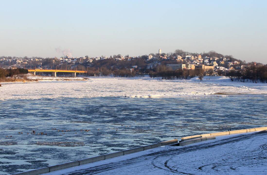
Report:
[[0,104],[2,174],[186,135],[267,124],[264,95],[23,99]]

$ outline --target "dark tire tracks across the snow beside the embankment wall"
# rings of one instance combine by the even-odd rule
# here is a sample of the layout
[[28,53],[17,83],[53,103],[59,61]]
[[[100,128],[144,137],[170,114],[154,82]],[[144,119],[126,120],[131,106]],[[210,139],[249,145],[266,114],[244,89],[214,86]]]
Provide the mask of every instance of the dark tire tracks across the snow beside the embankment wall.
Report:
[[[168,172],[181,173],[181,174],[190,174],[190,173],[179,172],[179,170],[175,170],[175,169],[170,168],[170,166],[167,165],[168,161],[172,157],[174,157],[176,155],[179,155],[181,153],[184,154],[184,153],[193,152],[193,151],[196,151],[196,150],[199,150],[199,149],[209,149],[209,148],[213,148],[213,147],[218,147],[218,146],[221,146],[221,145],[224,145],[224,144],[240,142],[240,141],[243,141],[243,140],[247,140],[247,139],[253,138],[255,136],[263,136],[263,135],[266,135],[266,134],[267,134],[267,131],[261,131],[261,132],[256,132],[256,133],[252,133],[252,134],[249,134],[249,135],[234,136],[234,137],[230,137],[230,138],[226,138],[226,139],[218,140],[218,141],[213,141],[213,142],[209,142],[209,143],[203,142],[203,144],[200,144],[200,145],[193,145],[193,146],[189,145],[187,147],[182,147],[182,148],[180,148],[180,147],[179,148],[178,147],[170,148],[171,146],[168,146],[169,149],[167,149],[167,150],[161,150],[161,151],[158,151],[158,152],[149,153],[149,154],[142,155],[142,156],[139,156],[139,157],[129,158],[128,160],[112,162],[112,163],[109,163],[109,164],[94,166],[94,167],[87,168],[87,169],[82,169],[82,170],[76,170],[76,171],[71,172],[71,173],[66,173],[66,175],[90,175],[90,174],[102,174],[103,172],[105,172],[105,174],[106,174],[107,171],[109,171],[109,170],[119,169],[119,168],[126,167],[126,166],[129,166],[129,165],[134,165],[134,164],[140,164],[140,163],[142,164],[142,162],[143,162],[143,164],[145,164],[145,162],[149,162],[149,161],[151,161],[151,164],[154,167],[162,169],[162,170],[165,170],[165,171],[168,171]],[[156,165],[155,164],[155,160],[157,158],[160,158],[161,160],[163,158],[166,158],[166,161],[164,162],[164,165]],[[169,159],[167,160],[167,158],[169,158]],[[221,166],[229,166],[229,165],[230,164],[221,165]],[[202,166],[202,168],[205,167],[205,166],[208,166],[208,165],[204,165],[204,166]],[[217,164],[217,166],[213,166],[212,169],[216,170],[215,168],[217,168],[217,167],[219,167],[218,164]],[[232,168],[233,167],[231,166],[231,169]],[[236,169],[236,167],[233,168],[233,169]]]

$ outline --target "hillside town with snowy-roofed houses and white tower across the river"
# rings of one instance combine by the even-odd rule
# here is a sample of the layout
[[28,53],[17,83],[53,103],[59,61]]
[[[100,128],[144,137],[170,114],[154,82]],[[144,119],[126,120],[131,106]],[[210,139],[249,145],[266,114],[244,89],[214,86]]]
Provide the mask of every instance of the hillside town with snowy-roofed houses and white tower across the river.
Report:
[[[246,63],[233,58],[231,55],[222,55],[215,51],[208,53],[189,53],[176,49],[174,52],[150,53],[142,56],[113,55],[110,57],[71,57],[68,55],[60,58],[42,58],[42,57],[0,57],[0,68],[2,69],[63,69],[63,70],[93,70],[92,76],[98,75],[95,72],[101,71],[101,74],[108,76],[111,73],[104,73],[102,70],[125,70],[132,74],[150,74],[156,72],[159,67],[166,67],[166,70],[202,70],[204,75],[228,75],[230,71],[239,72],[247,66],[264,66],[261,63]],[[162,69],[162,68],[161,68]],[[164,69],[165,70],[165,69]],[[198,76],[200,73],[194,73],[192,76]],[[186,76],[187,77],[187,76]],[[166,77],[167,78],[167,77]]]

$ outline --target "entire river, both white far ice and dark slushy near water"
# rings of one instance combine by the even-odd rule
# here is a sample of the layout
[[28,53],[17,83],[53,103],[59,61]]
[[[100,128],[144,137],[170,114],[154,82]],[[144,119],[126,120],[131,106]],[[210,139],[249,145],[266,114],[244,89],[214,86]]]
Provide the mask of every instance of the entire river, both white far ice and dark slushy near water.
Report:
[[[91,78],[2,85],[0,174],[267,125],[266,85],[259,83]],[[220,92],[238,94],[212,95]],[[148,96],[160,98],[136,98]]]

